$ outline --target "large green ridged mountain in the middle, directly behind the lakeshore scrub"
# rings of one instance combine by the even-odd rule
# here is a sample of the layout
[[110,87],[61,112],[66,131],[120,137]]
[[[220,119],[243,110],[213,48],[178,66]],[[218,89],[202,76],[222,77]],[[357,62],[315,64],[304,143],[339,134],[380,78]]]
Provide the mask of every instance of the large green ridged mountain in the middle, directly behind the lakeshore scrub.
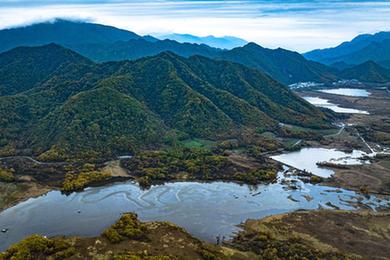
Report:
[[[67,62],[52,69],[48,60],[58,56]],[[26,66],[12,66],[15,57]],[[4,88],[14,95],[0,97],[3,153],[32,149],[46,159],[99,158],[176,135],[228,138],[278,122],[328,126],[320,110],[259,70],[201,56],[164,52],[97,64],[50,44],[13,49],[0,63],[7,74],[15,69],[12,75],[30,73],[32,79],[22,78],[20,88],[16,77]]]

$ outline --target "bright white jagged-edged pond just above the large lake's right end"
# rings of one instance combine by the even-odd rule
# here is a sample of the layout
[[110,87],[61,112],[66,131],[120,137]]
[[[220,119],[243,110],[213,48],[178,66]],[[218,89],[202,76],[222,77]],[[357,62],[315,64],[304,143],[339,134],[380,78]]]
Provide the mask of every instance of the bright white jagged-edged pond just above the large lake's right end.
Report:
[[334,171],[317,166],[317,162],[331,162],[343,165],[369,163],[368,161],[360,160],[364,155],[367,154],[358,150],[353,150],[352,153],[345,153],[336,149],[303,148],[296,152],[275,155],[271,158],[297,169],[306,170],[317,176],[328,178],[334,174]]

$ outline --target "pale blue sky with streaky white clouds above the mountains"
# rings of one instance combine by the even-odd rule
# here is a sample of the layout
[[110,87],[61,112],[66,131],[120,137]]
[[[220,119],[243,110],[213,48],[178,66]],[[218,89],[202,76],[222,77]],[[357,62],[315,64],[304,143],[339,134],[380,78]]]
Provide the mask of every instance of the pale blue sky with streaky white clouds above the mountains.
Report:
[[53,18],[135,33],[231,35],[299,52],[390,31],[390,0],[0,0],[0,29]]

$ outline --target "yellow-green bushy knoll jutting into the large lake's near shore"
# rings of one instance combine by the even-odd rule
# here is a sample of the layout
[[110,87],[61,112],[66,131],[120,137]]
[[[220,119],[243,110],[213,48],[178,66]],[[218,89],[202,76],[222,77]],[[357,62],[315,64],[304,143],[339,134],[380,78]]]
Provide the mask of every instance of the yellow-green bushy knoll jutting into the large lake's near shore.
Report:
[[146,226],[138,221],[137,214],[126,213],[111,227],[103,232],[103,235],[111,243],[119,243],[126,238],[140,239],[145,235]]

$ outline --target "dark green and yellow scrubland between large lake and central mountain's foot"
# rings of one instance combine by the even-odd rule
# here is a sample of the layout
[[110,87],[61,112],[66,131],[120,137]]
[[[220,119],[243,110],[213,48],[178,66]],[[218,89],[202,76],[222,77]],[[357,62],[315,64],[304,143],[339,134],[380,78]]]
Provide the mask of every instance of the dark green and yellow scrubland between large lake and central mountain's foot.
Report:
[[147,151],[122,162],[141,186],[169,180],[230,180],[256,184],[275,178],[274,165],[248,169],[221,153],[205,149],[175,148]]

